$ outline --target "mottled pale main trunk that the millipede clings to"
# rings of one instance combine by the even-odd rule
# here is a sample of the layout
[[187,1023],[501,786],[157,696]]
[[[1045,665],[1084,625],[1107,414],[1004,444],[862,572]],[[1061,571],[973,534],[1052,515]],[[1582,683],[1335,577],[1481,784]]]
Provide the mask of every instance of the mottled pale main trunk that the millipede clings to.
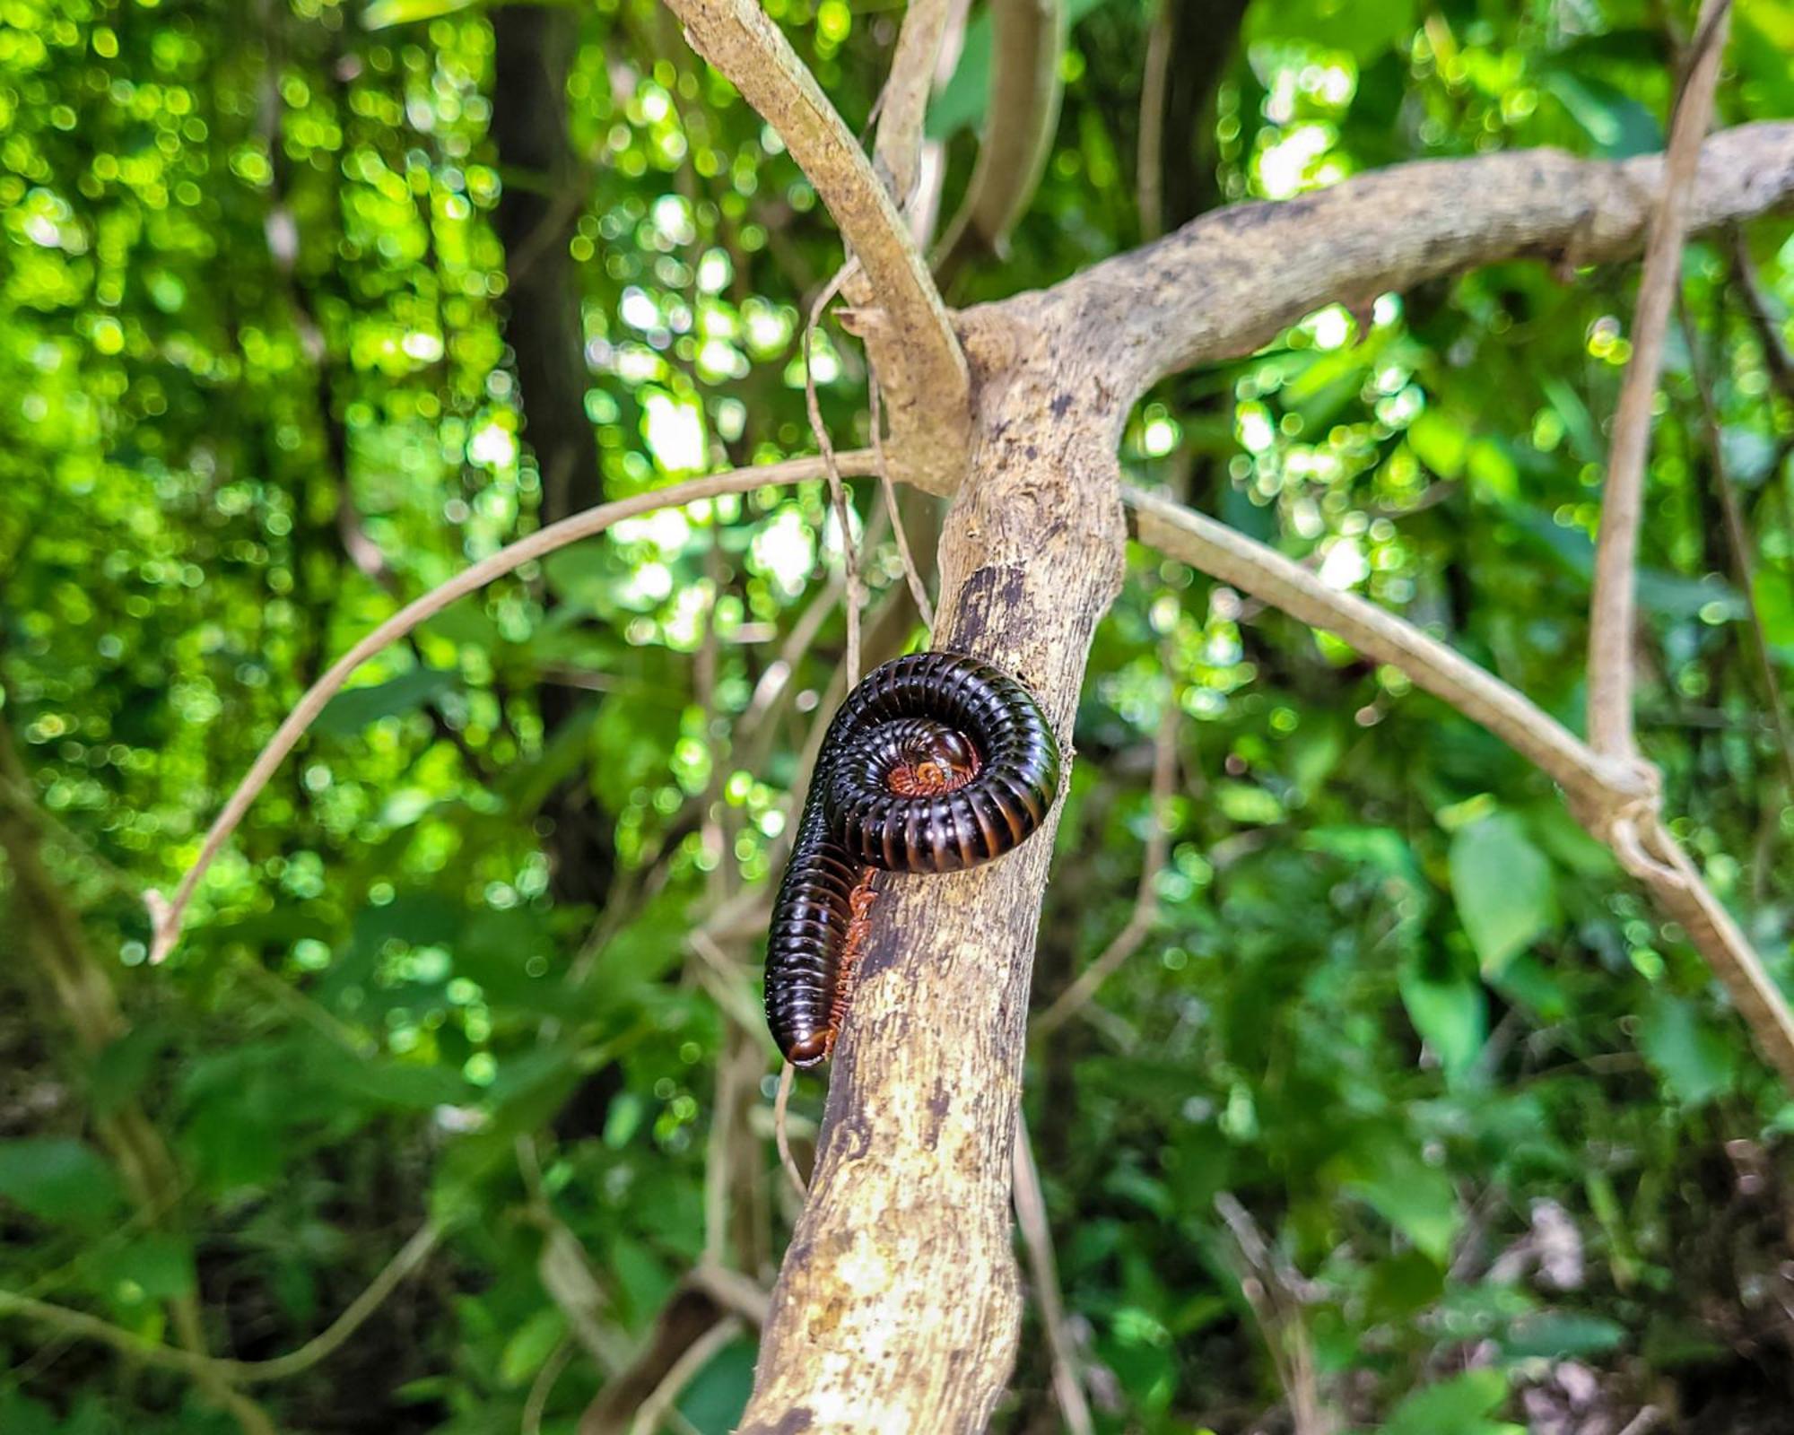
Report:
[[[1091,635],[1123,574],[1128,396],[1078,335],[1019,309],[967,334],[976,439],[942,535],[935,646],[1019,674],[1069,780]],[[881,891],[743,1435],[974,1431],[1003,1392],[1021,1317],[1012,1141],[1057,825],[1055,807],[997,863]]]

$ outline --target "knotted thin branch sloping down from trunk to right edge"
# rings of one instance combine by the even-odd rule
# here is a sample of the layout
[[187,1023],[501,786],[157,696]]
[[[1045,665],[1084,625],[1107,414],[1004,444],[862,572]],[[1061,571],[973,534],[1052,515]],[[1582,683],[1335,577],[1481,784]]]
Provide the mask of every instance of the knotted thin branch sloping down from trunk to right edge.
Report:
[[1765,1060],[1794,1089],[1794,1013],[1738,924],[1658,820],[1654,770],[1597,753],[1523,694],[1442,642],[1356,594],[1326,587],[1263,544],[1152,493],[1128,490],[1127,500],[1137,515],[1143,544],[1401,669],[1415,687],[1543,768],[1564,789],[1577,820],[1613,848],[1667,917],[1681,922]]

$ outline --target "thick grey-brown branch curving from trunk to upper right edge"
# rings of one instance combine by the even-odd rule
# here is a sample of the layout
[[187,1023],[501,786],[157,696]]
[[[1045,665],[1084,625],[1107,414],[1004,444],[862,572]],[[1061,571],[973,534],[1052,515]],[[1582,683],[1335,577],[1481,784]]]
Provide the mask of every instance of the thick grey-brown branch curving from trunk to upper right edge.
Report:
[[[1581,265],[1633,255],[1661,185],[1661,154],[1613,163],[1530,149],[1423,160],[1207,213],[996,309],[1058,310],[1060,326],[1103,348],[1107,382],[1139,395],[1166,373],[1250,353],[1335,300],[1362,303],[1520,257]],[[1701,147],[1688,231],[1790,199],[1794,122],[1738,126]]]

